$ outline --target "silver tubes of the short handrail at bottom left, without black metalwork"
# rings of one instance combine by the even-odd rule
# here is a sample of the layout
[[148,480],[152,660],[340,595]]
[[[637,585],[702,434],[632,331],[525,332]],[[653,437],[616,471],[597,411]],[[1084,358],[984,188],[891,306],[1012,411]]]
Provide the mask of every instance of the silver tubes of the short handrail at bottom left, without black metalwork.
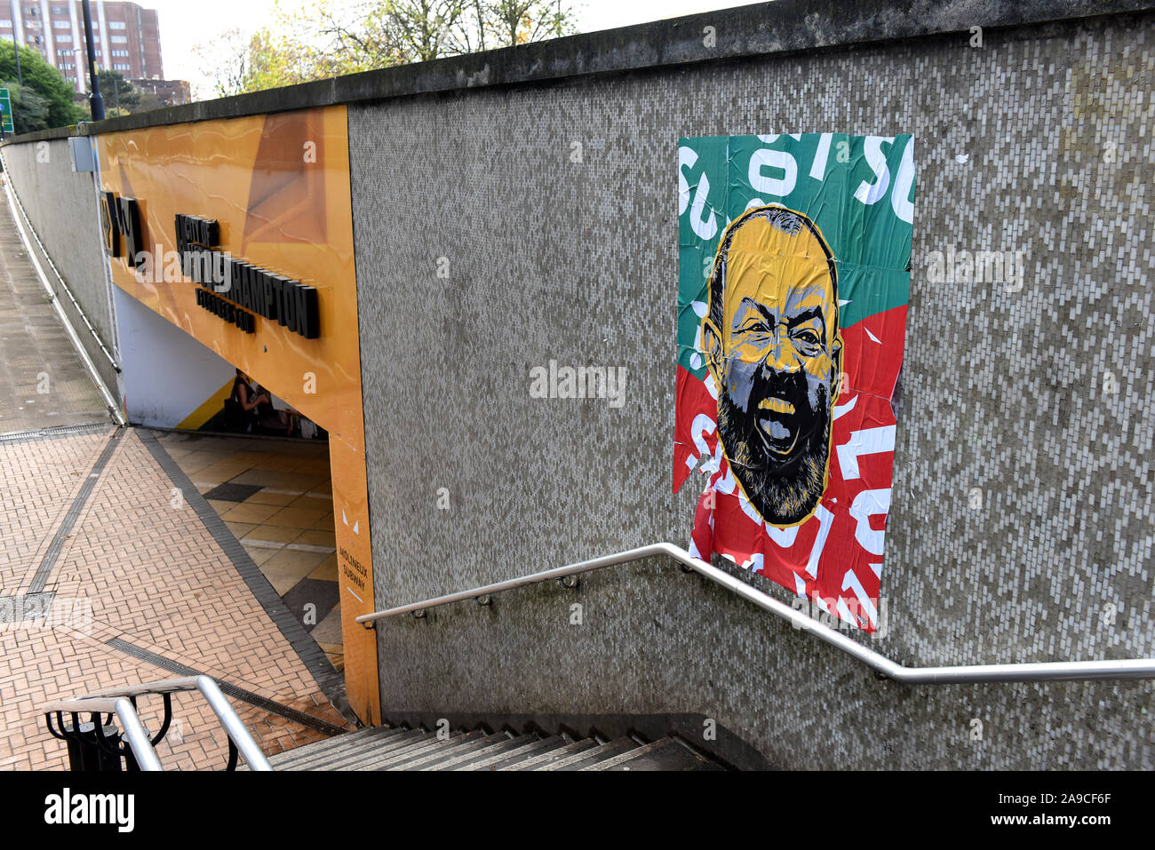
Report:
[[[111,687],[97,691],[85,696],[70,700],[58,700],[42,707],[43,714],[53,713],[98,713],[116,714],[125,730],[125,737],[132,747],[133,755],[141,770],[162,770],[156,751],[149,740],[148,732],[141,723],[140,717],[133,706],[132,700],[148,694],[172,694],[179,691],[200,691],[201,695],[209,703],[209,708],[216,714],[217,719],[224,728],[229,740],[236,746],[240,755],[251,770],[271,770],[273,766],[264,758],[260,746],[248,733],[248,729],[241,722],[237,711],[229,704],[229,700],[221,692],[221,687],[210,676],[186,676],[176,679],[162,679],[161,681],[149,681],[141,685],[128,685],[122,687]],[[166,709],[167,710],[167,703]],[[165,721],[167,726],[167,721]],[[163,735],[164,730],[162,730]],[[146,767],[148,765],[149,767]],[[152,767],[155,765],[155,767]]]

